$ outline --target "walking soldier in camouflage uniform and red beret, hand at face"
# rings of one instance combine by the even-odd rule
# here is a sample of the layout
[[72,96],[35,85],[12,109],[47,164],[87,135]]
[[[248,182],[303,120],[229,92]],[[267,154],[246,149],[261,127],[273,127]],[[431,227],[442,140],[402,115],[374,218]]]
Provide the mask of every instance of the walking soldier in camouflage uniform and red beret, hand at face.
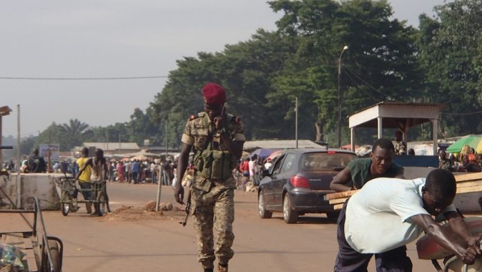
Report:
[[[239,118],[226,114],[226,92],[217,84],[202,89],[204,112],[191,115],[182,135],[181,154],[177,164],[177,180],[182,180],[193,147],[195,180],[191,188],[194,206],[194,228],[197,236],[199,262],[204,271],[228,271],[233,257],[233,221],[235,161],[241,157],[244,144]],[[175,198],[184,204],[184,188],[176,182]],[[213,228],[217,235],[214,249]]]

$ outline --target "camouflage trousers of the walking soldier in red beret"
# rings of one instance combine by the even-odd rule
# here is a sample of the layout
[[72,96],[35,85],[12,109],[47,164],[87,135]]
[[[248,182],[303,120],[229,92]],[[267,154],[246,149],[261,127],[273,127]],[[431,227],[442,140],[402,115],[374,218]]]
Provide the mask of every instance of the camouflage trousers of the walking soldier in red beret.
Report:
[[[227,264],[234,255],[234,189],[212,187],[209,192],[193,188],[194,229],[197,237],[198,260],[204,269],[218,262]],[[214,233],[217,237],[214,250]]]

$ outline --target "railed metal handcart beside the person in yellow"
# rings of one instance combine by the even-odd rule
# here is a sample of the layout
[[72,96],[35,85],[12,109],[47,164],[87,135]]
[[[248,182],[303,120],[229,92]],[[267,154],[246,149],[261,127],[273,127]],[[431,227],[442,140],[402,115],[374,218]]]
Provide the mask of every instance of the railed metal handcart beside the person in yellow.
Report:
[[[109,196],[107,195],[106,181],[94,181],[91,182],[91,189],[82,189],[78,182],[87,182],[75,177],[69,177],[64,173],[64,178],[60,179],[61,184],[61,196],[60,196],[60,208],[63,216],[67,216],[69,212],[77,212],[79,209],[79,203],[92,203],[93,205],[99,205],[100,214],[105,214],[105,211],[111,212],[109,207]],[[92,192],[92,199],[78,200],[79,192]]]

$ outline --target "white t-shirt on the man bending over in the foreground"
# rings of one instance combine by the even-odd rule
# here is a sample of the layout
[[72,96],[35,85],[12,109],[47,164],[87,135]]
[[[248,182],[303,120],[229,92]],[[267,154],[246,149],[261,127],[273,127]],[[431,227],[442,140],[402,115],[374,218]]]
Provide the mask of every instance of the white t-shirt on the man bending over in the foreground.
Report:
[[[345,238],[359,253],[382,253],[409,244],[423,229],[409,218],[423,208],[425,178],[375,178],[346,207]],[[443,212],[456,211],[453,204]],[[430,215],[430,214],[429,214]]]

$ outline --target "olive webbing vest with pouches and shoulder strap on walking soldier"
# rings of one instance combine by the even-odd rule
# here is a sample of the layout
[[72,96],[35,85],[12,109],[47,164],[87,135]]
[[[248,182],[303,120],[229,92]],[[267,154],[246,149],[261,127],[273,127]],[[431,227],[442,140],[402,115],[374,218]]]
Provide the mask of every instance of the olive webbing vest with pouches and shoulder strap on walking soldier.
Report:
[[[209,128],[208,114],[204,114],[202,118],[204,126]],[[233,155],[229,151],[215,150],[213,148],[214,135],[211,130],[208,133],[206,146],[198,149],[193,158],[196,174],[207,179],[225,180],[231,176],[235,167]],[[217,142],[217,146],[219,148],[219,142]]]

